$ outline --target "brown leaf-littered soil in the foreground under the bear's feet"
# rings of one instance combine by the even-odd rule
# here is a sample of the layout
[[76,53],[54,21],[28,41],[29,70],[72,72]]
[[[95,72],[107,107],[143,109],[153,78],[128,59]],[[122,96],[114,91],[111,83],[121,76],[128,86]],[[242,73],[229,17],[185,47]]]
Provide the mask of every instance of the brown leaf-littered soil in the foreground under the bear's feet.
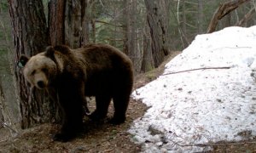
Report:
[[32,127],[22,131],[15,139],[0,143],[0,152],[138,152],[140,146],[130,141],[132,136],[127,129],[134,119],[143,116],[144,111],[145,105],[131,99],[124,124],[113,126],[107,120],[90,122],[85,119],[84,132],[67,143],[51,139],[59,128],[57,125]]

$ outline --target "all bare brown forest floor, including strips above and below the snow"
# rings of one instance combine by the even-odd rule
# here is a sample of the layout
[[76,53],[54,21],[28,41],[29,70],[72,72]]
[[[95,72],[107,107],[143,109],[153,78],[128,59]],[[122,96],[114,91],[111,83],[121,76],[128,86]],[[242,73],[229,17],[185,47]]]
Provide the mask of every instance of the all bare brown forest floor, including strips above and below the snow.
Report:
[[[166,59],[158,69],[145,74],[137,75],[134,88],[140,88],[158,77],[163,71],[165,64],[180,52],[174,52]],[[89,102],[90,111],[95,108],[93,100]],[[112,125],[106,121],[90,122],[84,119],[84,132],[76,139],[69,142],[55,142],[51,139],[53,133],[59,126],[44,124],[22,130],[15,138],[3,139],[0,131],[0,153],[4,152],[140,152],[141,146],[131,142],[132,135],[127,132],[132,122],[143,116],[147,106],[142,102],[131,99],[127,120],[121,125]],[[113,115],[113,105],[110,105],[108,116]],[[3,130],[3,128],[2,128]],[[5,129],[6,130],[6,129]],[[7,131],[6,131],[7,132]],[[6,136],[6,135],[5,135]],[[4,137],[6,138],[6,137]],[[256,152],[256,141],[245,141],[239,143],[220,142],[212,144],[209,152]]]

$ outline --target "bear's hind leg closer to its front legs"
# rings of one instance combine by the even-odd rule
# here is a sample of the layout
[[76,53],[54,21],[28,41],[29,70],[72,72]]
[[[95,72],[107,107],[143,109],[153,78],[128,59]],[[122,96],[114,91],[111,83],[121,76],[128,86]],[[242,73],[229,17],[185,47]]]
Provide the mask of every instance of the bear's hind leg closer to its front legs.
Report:
[[90,114],[90,119],[99,121],[108,114],[108,106],[110,104],[110,96],[96,96],[96,111]]

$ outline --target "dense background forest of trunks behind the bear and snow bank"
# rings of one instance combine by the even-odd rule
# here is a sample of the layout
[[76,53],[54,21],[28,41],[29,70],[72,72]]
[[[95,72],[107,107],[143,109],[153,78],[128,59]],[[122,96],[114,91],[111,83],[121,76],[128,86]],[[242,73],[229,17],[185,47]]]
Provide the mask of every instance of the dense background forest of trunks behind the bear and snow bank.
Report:
[[[9,3],[14,2],[18,1],[0,2],[0,128],[5,122],[15,129],[20,127],[24,114],[20,115],[23,106],[20,106],[20,85],[17,85],[15,77],[17,48],[14,44],[17,40],[13,41],[11,24],[15,21],[14,16],[11,18],[9,14]],[[212,15],[219,5],[230,1],[67,0],[62,6],[58,2],[37,0],[37,3],[43,4],[45,20],[48,21],[47,33],[44,34],[55,36],[50,37],[51,44],[64,43],[71,48],[90,42],[111,44],[129,55],[139,74],[158,67],[172,51],[186,48],[196,35],[207,33]],[[244,2],[247,3],[242,3],[218,21],[216,31],[227,26],[255,25],[256,3],[254,0]],[[63,14],[60,15],[59,11]],[[245,15],[248,15],[247,20],[243,20]],[[53,19],[55,16],[58,18]],[[27,24],[31,21],[27,20]],[[61,21],[63,25],[58,27]],[[64,31],[64,37],[59,36],[60,32],[56,29]],[[30,127],[30,124],[33,123],[24,123],[21,127]]]

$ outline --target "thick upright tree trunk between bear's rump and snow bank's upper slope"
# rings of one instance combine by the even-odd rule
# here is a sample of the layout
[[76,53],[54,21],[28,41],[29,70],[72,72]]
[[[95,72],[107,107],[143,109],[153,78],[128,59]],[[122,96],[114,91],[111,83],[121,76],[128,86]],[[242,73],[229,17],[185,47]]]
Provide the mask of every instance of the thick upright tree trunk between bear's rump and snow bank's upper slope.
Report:
[[154,67],[158,67],[169,54],[166,48],[166,6],[164,0],[144,0],[147,9],[148,26],[152,40]]

